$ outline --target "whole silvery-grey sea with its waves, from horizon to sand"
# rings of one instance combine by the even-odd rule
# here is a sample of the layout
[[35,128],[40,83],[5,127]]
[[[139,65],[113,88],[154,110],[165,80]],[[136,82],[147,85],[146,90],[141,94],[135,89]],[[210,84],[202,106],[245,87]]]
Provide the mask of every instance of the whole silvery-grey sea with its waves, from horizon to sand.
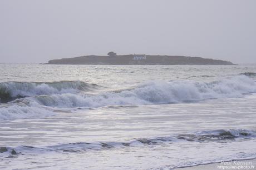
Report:
[[256,158],[256,64],[0,64],[0,169]]

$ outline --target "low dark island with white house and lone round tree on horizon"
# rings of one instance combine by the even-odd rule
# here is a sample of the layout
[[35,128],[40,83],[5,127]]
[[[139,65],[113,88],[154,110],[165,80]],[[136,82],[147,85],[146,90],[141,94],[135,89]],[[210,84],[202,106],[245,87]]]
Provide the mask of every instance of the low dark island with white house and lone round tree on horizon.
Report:
[[186,56],[160,56],[146,54],[117,55],[115,52],[107,56],[81,56],[73,58],[53,59],[45,64],[109,64],[109,65],[232,65],[232,62],[220,59]]

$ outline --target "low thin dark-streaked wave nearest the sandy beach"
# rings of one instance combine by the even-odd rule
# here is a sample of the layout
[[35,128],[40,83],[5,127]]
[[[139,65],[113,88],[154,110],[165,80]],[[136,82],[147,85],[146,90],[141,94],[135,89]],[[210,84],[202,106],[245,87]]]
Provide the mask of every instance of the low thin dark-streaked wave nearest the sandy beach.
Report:
[[62,143],[52,146],[34,147],[1,147],[0,153],[24,154],[24,152],[85,152],[102,149],[118,149],[124,147],[145,147],[158,144],[173,144],[179,142],[227,142],[236,139],[254,139],[256,131],[249,129],[219,129],[215,131],[199,131],[190,134],[173,134],[165,137],[138,138],[126,142],[76,142]]

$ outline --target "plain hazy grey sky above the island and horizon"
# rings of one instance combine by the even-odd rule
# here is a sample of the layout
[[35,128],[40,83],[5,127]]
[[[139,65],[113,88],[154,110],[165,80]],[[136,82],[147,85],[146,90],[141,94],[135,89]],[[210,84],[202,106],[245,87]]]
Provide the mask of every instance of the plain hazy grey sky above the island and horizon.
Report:
[[1,0],[0,63],[168,54],[256,63],[255,0]]

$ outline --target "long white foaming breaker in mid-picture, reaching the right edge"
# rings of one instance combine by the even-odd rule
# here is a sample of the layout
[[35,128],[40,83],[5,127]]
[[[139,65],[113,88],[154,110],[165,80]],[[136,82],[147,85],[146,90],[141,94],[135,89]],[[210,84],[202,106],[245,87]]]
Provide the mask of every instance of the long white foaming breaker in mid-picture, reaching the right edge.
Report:
[[53,94],[33,99],[52,107],[104,107],[113,105],[170,104],[214,98],[243,97],[255,93],[256,83],[237,76],[211,83],[196,81],[151,81],[132,89],[99,94]]

